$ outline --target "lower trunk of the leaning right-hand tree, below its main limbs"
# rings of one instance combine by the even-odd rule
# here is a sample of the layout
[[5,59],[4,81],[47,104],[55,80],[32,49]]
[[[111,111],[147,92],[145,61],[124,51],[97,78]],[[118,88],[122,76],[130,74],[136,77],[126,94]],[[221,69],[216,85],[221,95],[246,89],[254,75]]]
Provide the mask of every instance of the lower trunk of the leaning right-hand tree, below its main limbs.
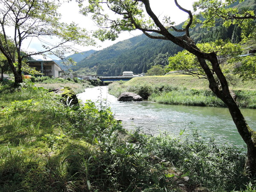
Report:
[[256,131],[253,131],[248,126],[237,103],[231,96],[227,80],[219,67],[216,55],[212,54],[209,57],[209,61],[211,62],[213,71],[217,75],[218,80],[221,84],[220,87],[218,82],[214,79],[212,72],[209,70],[205,59],[198,57],[198,61],[201,64],[201,67],[204,69],[205,73],[207,74],[209,88],[216,94],[216,96],[218,96],[218,98],[220,98],[227,105],[233,122],[235,123],[239,134],[247,145],[246,171],[251,177],[253,177],[254,175],[256,175]]

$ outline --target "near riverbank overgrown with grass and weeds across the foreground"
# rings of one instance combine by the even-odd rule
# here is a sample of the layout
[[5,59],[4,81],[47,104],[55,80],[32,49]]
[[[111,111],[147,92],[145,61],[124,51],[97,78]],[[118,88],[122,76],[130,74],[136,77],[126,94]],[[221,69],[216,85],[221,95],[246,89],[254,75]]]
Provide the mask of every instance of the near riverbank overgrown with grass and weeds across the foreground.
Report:
[[127,132],[104,101],[0,84],[0,191],[255,191],[245,155],[197,132]]

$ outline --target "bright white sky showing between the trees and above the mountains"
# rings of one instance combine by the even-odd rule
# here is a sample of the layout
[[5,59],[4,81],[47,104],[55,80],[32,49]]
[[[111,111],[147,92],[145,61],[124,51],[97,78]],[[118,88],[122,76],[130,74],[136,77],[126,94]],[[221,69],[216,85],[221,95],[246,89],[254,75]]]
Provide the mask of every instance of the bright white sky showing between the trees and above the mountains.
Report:
[[[192,2],[194,0],[178,0],[178,3],[185,9],[192,10]],[[162,20],[162,18],[166,15],[170,16],[172,21],[175,21],[175,24],[179,24],[188,18],[188,15],[178,9],[174,3],[174,0],[150,0],[151,9],[154,13]],[[59,12],[62,15],[62,21],[66,23],[75,22],[78,23],[80,27],[90,30],[96,30],[98,27],[88,17],[79,14],[79,7],[75,1],[71,3],[63,3],[62,6],[59,8]],[[78,52],[88,51],[90,49],[94,50],[101,50],[106,47],[109,47],[119,41],[123,41],[128,38],[132,38],[134,36],[140,35],[142,32],[139,30],[133,32],[122,32],[115,41],[96,41],[96,46],[88,46],[88,47],[81,47],[76,45],[75,48]],[[39,51],[41,49],[41,43],[36,39],[28,40],[24,42],[23,49],[27,49],[28,51]],[[34,57],[36,59],[44,59],[41,56]],[[49,56],[47,60],[50,59],[57,59],[55,56]]]

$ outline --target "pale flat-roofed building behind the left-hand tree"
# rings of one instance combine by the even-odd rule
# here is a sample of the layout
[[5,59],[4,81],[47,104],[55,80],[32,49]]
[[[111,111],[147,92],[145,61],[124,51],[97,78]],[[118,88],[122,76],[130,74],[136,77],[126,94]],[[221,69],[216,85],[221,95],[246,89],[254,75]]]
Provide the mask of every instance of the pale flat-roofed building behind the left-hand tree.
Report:
[[36,70],[49,77],[60,77],[64,70],[55,61],[28,61],[29,67],[35,67]]

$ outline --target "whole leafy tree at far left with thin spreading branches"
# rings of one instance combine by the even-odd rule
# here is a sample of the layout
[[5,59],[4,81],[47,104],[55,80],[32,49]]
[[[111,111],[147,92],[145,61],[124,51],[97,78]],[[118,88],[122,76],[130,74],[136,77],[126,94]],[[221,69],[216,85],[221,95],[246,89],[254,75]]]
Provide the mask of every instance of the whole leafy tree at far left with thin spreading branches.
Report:
[[[55,0],[0,0],[0,51],[12,69],[16,84],[22,82],[23,59],[46,53],[63,57],[67,51],[72,50],[68,43],[93,44],[84,29],[75,23],[60,22],[61,15],[57,12],[60,5],[61,1]],[[7,35],[10,27],[13,37]],[[22,55],[22,45],[26,39],[39,40],[42,50]],[[10,40],[15,45],[15,52]]]

